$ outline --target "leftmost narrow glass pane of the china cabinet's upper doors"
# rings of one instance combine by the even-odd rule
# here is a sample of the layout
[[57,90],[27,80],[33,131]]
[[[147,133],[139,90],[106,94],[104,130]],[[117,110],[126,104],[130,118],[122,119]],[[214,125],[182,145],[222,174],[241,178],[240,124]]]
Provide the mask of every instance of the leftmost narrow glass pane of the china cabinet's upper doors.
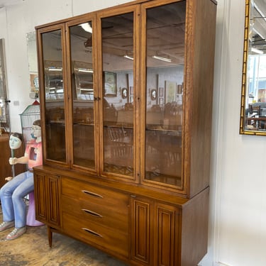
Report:
[[47,159],[66,161],[65,104],[61,31],[42,34],[45,67],[45,133]]

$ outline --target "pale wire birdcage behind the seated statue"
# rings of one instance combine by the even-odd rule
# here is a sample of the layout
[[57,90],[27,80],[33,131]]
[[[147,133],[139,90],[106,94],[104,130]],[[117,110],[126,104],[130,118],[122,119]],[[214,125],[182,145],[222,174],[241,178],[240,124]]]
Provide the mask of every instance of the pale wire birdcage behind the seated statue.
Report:
[[24,143],[28,143],[33,139],[31,136],[33,122],[40,119],[40,104],[36,100],[33,104],[27,106],[27,108],[20,114],[21,116],[21,128]]

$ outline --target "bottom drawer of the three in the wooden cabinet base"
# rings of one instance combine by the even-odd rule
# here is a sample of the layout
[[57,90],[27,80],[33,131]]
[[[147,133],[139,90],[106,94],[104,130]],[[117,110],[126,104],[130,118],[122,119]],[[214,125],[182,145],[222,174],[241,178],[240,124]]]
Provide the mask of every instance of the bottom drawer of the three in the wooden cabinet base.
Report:
[[128,257],[128,231],[116,231],[94,221],[82,221],[82,218],[67,213],[62,214],[62,221],[63,230],[74,238]]

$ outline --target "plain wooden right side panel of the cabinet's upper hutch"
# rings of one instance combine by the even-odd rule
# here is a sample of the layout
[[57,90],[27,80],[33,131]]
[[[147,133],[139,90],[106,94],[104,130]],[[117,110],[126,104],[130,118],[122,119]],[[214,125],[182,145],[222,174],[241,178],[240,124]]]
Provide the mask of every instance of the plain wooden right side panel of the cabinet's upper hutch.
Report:
[[194,64],[189,66],[193,72],[190,197],[209,186],[216,31],[216,4],[209,0],[192,2]]

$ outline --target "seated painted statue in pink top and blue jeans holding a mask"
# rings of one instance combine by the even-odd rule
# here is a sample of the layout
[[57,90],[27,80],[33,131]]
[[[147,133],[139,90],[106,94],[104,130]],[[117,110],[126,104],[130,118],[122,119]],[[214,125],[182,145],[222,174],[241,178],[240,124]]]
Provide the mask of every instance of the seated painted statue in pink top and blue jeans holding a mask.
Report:
[[[26,233],[27,209],[23,198],[34,190],[33,167],[43,164],[42,143],[40,132],[40,120],[34,121],[32,127],[33,140],[26,144],[23,157],[9,158],[10,165],[17,163],[28,164],[28,171],[18,174],[16,177],[7,177],[9,182],[0,189],[0,199],[3,211],[3,222],[0,224],[0,232],[15,227],[6,240],[13,240]],[[22,140],[21,140],[22,143]],[[11,150],[21,145],[18,138],[13,136],[10,140]]]

